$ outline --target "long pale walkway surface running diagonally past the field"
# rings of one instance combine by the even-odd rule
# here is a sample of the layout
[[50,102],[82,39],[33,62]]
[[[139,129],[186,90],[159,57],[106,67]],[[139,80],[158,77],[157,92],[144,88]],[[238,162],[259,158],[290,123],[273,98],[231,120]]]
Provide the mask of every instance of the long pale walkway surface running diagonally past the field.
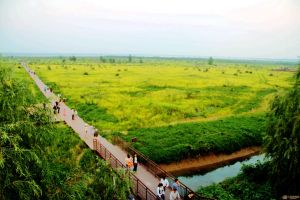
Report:
[[[22,62],[21,65],[25,68],[25,70],[29,73],[31,78],[34,80],[34,82],[37,84],[38,88],[41,90],[41,92],[51,101],[52,106],[54,105],[55,101],[57,101],[59,98],[49,90],[45,90],[45,87],[47,87],[37,75],[35,75],[34,72],[31,71],[31,69],[27,66],[26,63]],[[89,133],[85,133],[85,124],[86,122],[83,121],[79,116],[75,118],[75,120],[72,120],[72,110],[65,105],[64,103],[60,104],[60,114],[57,115],[59,120],[65,121],[76,133],[78,133],[79,137],[85,141],[85,143],[94,150],[93,146],[93,139],[95,137]],[[88,126],[90,127],[90,126]],[[88,128],[89,129],[89,128]],[[111,144],[108,142],[105,138],[98,136],[97,140],[106,148],[108,149],[122,164],[125,165],[125,157],[127,155],[127,152],[122,150],[120,147]],[[140,181],[148,187],[149,190],[151,190],[154,194],[156,194],[156,187],[159,183],[159,179],[157,179],[153,174],[151,174],[149,171],[147,171],[146,167],[143,165],[138,165],[137,172],[135,173],[135,176],[140,179]],[[167,191],[166,199],[169,199],[169,191]],[[147,198],[147,197],[146,197]],[[152,198],[148,198],[152,199]]]

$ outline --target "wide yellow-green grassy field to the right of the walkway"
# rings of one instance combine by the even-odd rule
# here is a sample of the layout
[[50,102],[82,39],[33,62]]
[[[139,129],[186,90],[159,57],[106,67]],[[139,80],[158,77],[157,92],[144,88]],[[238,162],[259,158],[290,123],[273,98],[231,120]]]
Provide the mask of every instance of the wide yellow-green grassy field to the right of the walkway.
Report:
[[29,62],[105,137],[138,137],[135,147],[157,162],[260,145],[268,101],[293,76],[272,70],[282,65],[201,60]]

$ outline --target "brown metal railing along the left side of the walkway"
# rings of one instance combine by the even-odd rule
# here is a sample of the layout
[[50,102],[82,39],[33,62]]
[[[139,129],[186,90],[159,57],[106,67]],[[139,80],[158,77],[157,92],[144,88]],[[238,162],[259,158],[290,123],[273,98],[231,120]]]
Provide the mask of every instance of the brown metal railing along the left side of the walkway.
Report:
[[[97,154],[106,160],[112,168],[126,168],[106,147],[104,147],[97,139],[93,139],[94,150]],[[155,193],[149,189],[137,176],[129,172],[129,179],[132,184],[133,193],[145,200],[156,200]]]

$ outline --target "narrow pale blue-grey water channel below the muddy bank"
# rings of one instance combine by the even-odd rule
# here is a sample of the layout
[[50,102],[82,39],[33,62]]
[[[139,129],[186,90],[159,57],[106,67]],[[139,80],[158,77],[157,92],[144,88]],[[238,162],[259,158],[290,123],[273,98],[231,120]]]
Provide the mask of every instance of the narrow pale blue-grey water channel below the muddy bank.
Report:
[[192,175],[179,176],[178,178],[186,186],[196,191],[200,187],[205,187],[213,183],[219,183],[226,178],[234,177],[240,172],[243,164],[254,164],[257,161],[262,162],[264,157],[264,154],[256,155],[244,161],[237,161],[234,164],[223,166],[204,174],[200,172]]

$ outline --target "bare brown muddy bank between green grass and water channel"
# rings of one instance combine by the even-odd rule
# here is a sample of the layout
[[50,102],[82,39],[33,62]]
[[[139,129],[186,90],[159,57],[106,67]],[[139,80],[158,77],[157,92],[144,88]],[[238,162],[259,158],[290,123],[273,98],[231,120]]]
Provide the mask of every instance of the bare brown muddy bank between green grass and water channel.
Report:
[[209,154],[198,158],[184,159],[180,162],[160,164],[160,167],[174,175],[180,175],[191,173],[193,171],[213,169],[236,160],[246,159],[250,156],[259,154],[260,151],[261,147],[248,147],[232,154]]

